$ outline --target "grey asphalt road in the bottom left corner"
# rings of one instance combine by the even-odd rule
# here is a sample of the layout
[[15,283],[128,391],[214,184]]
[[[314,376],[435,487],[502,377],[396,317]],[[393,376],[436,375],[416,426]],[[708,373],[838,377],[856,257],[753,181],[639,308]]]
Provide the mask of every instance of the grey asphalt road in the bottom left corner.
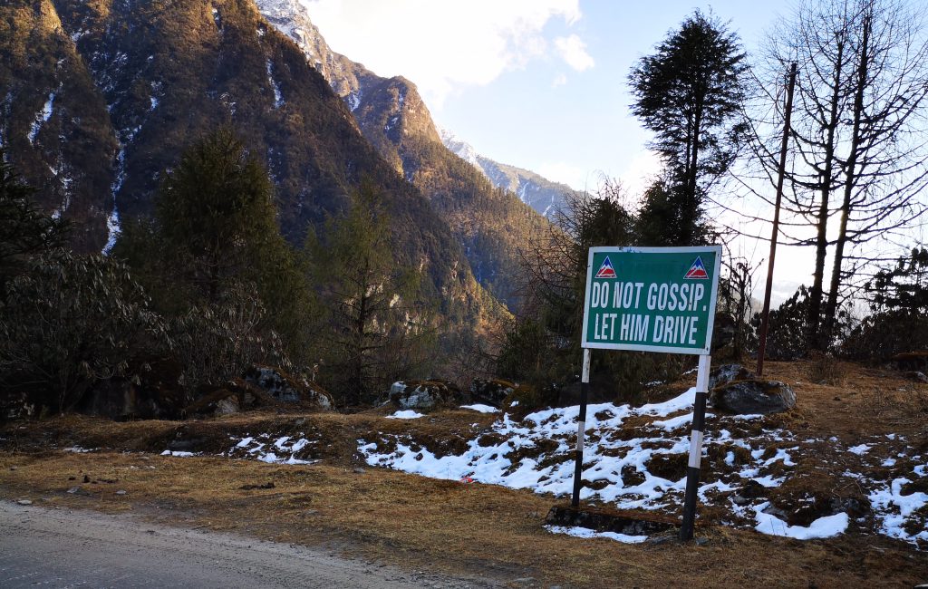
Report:
[[491,587],[125,515],[0,501],[0,587]]

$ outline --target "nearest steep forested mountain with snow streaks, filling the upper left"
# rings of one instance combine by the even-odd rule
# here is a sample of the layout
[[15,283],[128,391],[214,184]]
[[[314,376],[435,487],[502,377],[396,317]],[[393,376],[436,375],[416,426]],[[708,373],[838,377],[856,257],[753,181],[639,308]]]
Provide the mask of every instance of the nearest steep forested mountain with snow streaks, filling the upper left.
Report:
[[148,215],[185,147],[230,125],[266,161],[291,243],[362,179],[393,214],[392,255],[453,322],[495,307],[456,233],[383,160],[303,51],[252,0],[8,0],[0,5],[0,141],[48,211],[100,250]]

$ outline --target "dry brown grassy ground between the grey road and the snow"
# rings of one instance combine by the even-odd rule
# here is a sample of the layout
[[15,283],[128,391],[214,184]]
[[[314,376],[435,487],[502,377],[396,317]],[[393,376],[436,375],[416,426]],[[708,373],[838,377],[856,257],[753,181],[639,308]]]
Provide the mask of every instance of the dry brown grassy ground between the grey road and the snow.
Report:
[[[797,407],[779,426],[851,443],[897,433],[928,443],[928,386],[856,365],[768,363]],[[687,383],[678,383],[679,387]],[[697,543],[619,544],[551,534],[563,497],[432,480],[367,467],[356,441],[411,426],[384,411],[352,416],[251,414],[188,422],[114,423],[65,416],[0,429],[0,498],[36,506],[131,511],[170,525],[325,547],[407,569],[495,579],[511,586],[911,587],[928,582],[928,552],[876,534],[796,541],[706,519]],[[453,449],[495,416],[446,411],[414,426]],[[312,431],[311,465],[215,454],[232,435]],[[711,427],[711,425],[710,425]],[[178,440],[207,454],[160,455]],[[93,449],[75,452],[66,448]],[[270,483],[273,483],[271,485]],[[120,493],[124,492],[124,493]]]

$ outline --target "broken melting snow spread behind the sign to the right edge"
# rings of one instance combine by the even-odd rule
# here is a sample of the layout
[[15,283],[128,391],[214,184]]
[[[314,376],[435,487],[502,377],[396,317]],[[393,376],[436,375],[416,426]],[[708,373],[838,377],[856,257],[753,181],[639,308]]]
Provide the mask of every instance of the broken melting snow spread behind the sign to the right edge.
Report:
[[[597,484],[585,485],[581,497],[620,509],[677,511],[682,505],[686,479],[673,465],[680,460],[684,460],[685,464],[685,455],[689,452],[689,432],[685,429],[692,418],[692,400],[693,390],[690,390],[665,403],[650,403],[637,408],[613,403],[589,405],[583,478]],[[393,442],[390,445],[395,448],[393,451],[380,452],[378,447],[382,448],[383,445],[369,439],[358,440],[358,451],[370,466],[390,467],[435,479],[466,478],[475,482],[564,496],[573,490],[572,450],[578,414],[577,406],[536,411],[525,416],[522,421],[514,421],[509,413],[503,413],[484,432],[484,435],[492,434],[492,438],[480,436],[471,440],[459,455],[438,457],[429,448],[403,434],[380,434],[381,440]],[[652,416],[655,419],[650,424],[638,426],[640,437],[623,439],[625,436],[619,432],[625,420],[637,416]],[[763,513],[763,509],[769,505],[765,497],[759,497],[747,505],[736,505],[731,500],[731,493],[737,493],[747,480],[754,480],[766,488],[780,487],[790,476],[791,469],[797,466],[796,458],[803,458],[809,446],[823,442],[816,438],[798,441],[792,432],[785,429],[761,429],[739,439],[744,433],[739,431],[740,426],[737,424],[745,417],[715,418],[715,431],[710,430],[705,438],[705,452],[711,455],[714,446],[742,448],[747,451],[747,460],[740,463],[738,453],[729,450],[721,458],[728,464],[728,471],[721,478],[700,486],[698,492],[701,500],[715,505],[721,501],[722,505],[726,505],[736,517],[726,519],[729,525],[747,524],[764,533],[810,539],[844,532],[849,520],[845,513],[817,519],[807,527],[788,526],[775,516]],[[481,442],[491,443],[481,445]],[[557,446],[551,442],[556,442]],[[772,455],[767,454],[773,442],[791,442],[795,445],[778,447]],[[862,445],[867,445],[871,454],[877,451],[874,444]],[[538,450],[531,452],[532,448]],[[658,470],[658,467],[661,469]],[[928,465],[919,465],[913,469],[913,474],[924,477],[926,471]],[[858,480],[868,489],[880,484],[850,470],[846,470],[842,476]],[[904,482],[899,482],[892,489],[871,496],[874,515],[878,520],[885,521],[883,533],[887,535],[902,537],[900,534],[905,533],[902,527],[908,523],[911,528],[912,519],[906,519],[904,515],[894,516],[900,505],[905,506],[902,509],[905,514],[912,514],[924,506],[928,499],[925,493],[901,495],[902,484]],[[928,539],[928,531],[924,535],[906,536],[906,539],[913,542],[916,538]]]

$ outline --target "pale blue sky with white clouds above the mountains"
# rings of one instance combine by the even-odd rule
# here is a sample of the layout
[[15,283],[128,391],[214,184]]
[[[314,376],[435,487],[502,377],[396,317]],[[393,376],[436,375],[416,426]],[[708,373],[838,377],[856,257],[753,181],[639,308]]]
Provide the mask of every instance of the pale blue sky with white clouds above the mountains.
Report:
[[[629,109],[633,65],[696,9],[727,22],[749,55],[789,10],[744,0],[301,2],[334,51],[416,83],[434,121],[481,155],[579,190],[617,178],[632,199],[660,169],[647,148],[651,134]],[[763,242],[737,247],[754,263],[767,257]],[[780,247],[777,299],[809,283],[809,253]],[[758,285],[766,279],[760,265]]]

